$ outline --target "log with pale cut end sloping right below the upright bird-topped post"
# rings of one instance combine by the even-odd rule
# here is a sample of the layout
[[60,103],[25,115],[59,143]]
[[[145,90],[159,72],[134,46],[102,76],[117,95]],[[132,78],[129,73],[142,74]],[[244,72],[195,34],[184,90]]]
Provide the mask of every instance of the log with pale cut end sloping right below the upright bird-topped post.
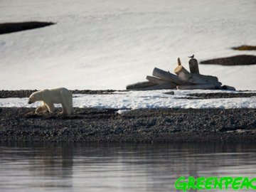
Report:
[[[205,76],[204,78],[201,78],[202,76]],[[215,85],[216,88],[219,88],[221,86],[221,82],[217,82],[215,80],[212,80],[211,78],[206,78],[206,75],[198,75],[198,74],[193,74],[193,73],[184,73],[181,71],[178,74],[178,78],[185,82],[191,82],[196,85],[201,85],[201,84],[213,84]]]

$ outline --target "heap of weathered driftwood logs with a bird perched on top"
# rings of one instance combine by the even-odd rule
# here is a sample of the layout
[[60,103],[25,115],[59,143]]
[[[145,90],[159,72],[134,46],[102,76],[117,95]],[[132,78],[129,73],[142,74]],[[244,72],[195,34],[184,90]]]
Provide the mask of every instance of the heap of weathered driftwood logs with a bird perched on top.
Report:
[[235,90],[235,87],[222,85],[215,76],[201,75],[195,58],[191,58],[188,63],[190,73],[178,58],[178,66],[174,70],[176,75],[154,68],[153,76],[146,76],[147,81],[127,85],[127,90]]

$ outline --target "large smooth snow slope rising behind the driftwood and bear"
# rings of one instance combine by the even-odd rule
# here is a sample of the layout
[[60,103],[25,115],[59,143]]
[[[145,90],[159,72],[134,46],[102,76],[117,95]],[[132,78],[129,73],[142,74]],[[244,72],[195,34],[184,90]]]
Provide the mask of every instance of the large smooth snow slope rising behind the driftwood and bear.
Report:
[[[255,0],[4,0],[1,23],[57,24],[0,36],[4,90],[117,89],[145,80],[154,67],[172,71],[177,57],[236,54],[256,44]],[[256,65],[200,65],[223,84],[256,90]]]

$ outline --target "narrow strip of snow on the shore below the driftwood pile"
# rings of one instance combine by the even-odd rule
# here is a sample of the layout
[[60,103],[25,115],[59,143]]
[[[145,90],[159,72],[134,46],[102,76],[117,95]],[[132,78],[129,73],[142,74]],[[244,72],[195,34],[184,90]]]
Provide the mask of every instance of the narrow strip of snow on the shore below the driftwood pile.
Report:
[[[207,100],[181,99],[190,93],[228,92],[220,90],[177,90],[174,95],[166,94],[169,90],[114,92],[110,95],[76,94],[73,99],[74,107],[142,109],[142,108],[256,108],[256,97],[225,98]],[[0,107],[37,107],[40,102],[28,105],[28,98],[0,99]],[[56,105],[60,107],[60,105]],[[120,111],[122,113],[122,111]]]

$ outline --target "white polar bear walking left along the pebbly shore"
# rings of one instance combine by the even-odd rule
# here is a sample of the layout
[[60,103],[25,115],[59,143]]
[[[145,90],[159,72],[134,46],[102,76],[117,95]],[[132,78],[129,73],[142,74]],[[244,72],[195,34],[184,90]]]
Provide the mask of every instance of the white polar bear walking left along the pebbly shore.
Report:
[[28,104],[41,101],[42,105],[36,108],[36,114],[40,112],[53,112],[54,103],[60,103],[62,106],[62,114],[73,114],[73,98],[72,92],[64,87],[40,90],[33,92],[28,98]]

